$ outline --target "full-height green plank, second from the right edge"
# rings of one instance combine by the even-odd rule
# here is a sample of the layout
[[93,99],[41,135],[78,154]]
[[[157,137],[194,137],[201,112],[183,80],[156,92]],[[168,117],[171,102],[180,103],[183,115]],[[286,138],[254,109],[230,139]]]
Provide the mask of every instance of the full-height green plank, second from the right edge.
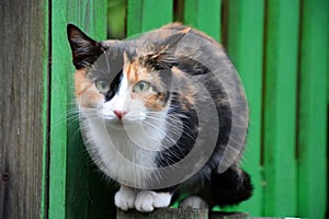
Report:
[[296,215],[298,0],[266,4],[263,146],[264,216]]

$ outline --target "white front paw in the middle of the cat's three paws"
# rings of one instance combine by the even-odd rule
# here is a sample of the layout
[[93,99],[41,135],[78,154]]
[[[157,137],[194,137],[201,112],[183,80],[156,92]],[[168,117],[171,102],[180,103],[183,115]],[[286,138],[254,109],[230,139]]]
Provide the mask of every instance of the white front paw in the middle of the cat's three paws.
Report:
[[152,211],[155,208],[164,208],[170,205],[170,193],[140,191],[136,197],[135,208],[141,212]]

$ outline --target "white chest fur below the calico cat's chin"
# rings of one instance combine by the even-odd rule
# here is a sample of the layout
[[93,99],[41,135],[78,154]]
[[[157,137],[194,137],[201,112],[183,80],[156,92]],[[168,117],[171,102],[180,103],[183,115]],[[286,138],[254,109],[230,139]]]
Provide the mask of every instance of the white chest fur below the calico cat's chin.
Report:
[[144,187],[157,171],[156,158],[164,130],[141,125],[115,129],[98,117],[86,117],[82,126],[93,161],[111,178],[132,187]]

